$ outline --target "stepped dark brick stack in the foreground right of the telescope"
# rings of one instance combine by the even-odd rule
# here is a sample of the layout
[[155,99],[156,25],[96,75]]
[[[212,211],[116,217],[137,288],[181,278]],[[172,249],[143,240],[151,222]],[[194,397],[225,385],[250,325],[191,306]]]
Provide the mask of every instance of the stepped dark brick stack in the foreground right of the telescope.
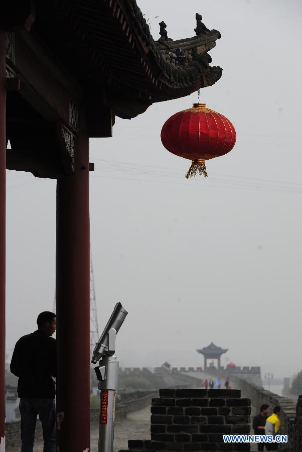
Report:
[[223,442],[225,433],[250,432],[250,411],[240,390],[160,389],[152,400],[151,439],[129,440],[127,452],[250,450],[248,443]]

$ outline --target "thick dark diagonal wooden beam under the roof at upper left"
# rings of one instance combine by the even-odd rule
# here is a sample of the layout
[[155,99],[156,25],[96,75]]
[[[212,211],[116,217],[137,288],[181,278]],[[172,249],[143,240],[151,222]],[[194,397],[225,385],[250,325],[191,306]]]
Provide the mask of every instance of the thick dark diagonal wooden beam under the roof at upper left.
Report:
[[81,87],[33,32],[7,36],[7,61],[21,79],[20,94],[45,120],[61,121],[77,133]]

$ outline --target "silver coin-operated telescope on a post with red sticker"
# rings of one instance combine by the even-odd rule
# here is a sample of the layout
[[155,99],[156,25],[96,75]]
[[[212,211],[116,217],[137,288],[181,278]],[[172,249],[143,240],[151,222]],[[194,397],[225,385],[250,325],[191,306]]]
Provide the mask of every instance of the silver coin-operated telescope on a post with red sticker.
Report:
[[128,312],[121,303],[116,303],[112,314],[99,338],[92,355],[92,364],[101,390],[99,452],[113,452],[115,397],[118,387],[118,361],[115,353],[115,338]]

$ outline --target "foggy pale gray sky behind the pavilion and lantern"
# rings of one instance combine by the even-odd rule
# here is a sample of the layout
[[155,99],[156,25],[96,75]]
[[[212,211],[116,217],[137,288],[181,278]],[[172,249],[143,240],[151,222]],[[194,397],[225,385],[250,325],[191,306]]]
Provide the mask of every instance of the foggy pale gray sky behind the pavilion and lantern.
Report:
[[[200,100],[234,124],[237,143],[186,180],[161,128],[191,96],[116,119],[92,139],[91,245],[99,328],[128,310],[122,366],[203,365],[213,341],[237,365],[289,376],[302,368],[301,16],[298,0],[139,0],[154,38],[194,36],[195,13],[222,38],[222,78]],[[159,18],[154,19],[155,16]],[[8,171],[7,348],[52,310],[56,183]],[[223,360],[225,365],[226,361]]]

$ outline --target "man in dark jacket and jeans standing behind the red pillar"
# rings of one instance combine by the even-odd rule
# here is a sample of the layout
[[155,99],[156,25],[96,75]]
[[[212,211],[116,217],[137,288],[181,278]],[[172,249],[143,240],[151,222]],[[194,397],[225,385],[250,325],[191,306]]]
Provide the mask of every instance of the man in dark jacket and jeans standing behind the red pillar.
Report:
[[19,377],[21,452],[33,452],[37,415],[42,423],[43,452],[56,450],[55,382],[57,373],[56,314],[41,312],[38,329],[16,343],[11,372]]

